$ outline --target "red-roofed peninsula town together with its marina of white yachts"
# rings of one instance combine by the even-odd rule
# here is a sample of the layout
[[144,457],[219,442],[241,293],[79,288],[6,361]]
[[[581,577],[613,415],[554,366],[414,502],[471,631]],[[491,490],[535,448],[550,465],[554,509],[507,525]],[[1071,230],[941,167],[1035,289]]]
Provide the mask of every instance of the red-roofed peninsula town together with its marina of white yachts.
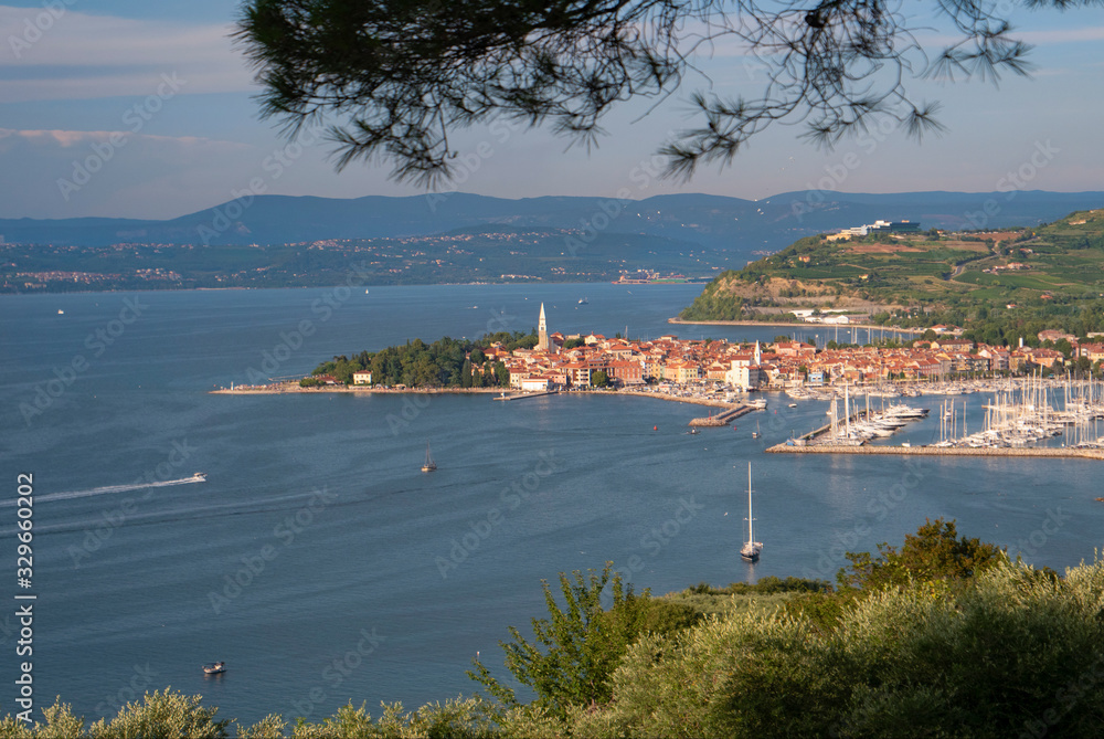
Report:
[[[473,350],[457,387],[388,384],[373,381],[372,370],[365,368],[344,380],[316,370],[299,382],[215,392],[477,392],[496,393],[497,400],[518,400],[613,390],[719,409],[715,414],[711,411],[708,416],[690,420],[691,433],[697,433],[699,426],[728,425],[746,413],[764,410],[765,398],[749,393],[773,391],[793,401],[830,405],[829,420],[820,427],[776,444],[769,452],[1026,453],[1100,458],[1104,450],[1098,426],[1104,419],[1104,383],[1091,376],[1100,376],[1104,340],[1100,335],[1087,338],[1083,341],[1062,331],[1043,330],[1030,342],[998,347],[964,338],[955,326],[935,326],[923,338],[904,345],[829,341],[817,347],[782,337],[771,342],[684,340],[675,335],[608,338],[593,332],[550,332],[542,305],[537,336],[530,336],[530,342],[508,348],[492,341]],[[476,353],[481,357],[474,365]],[[488,372],[491,367],[496,370]],[[938,441],[916,446],[907,442],[868,444],[928,415],[930,409],[900,401],[887,407],[887,399],[973,392],[991,394],[984,405],[983,427],[975,426],[973,434],[968,432],[966,403],[944,399]],[[790,403],[790,408],[795,405]],[[1048,437],[1060,435],[1061,446],[1047,444]]]

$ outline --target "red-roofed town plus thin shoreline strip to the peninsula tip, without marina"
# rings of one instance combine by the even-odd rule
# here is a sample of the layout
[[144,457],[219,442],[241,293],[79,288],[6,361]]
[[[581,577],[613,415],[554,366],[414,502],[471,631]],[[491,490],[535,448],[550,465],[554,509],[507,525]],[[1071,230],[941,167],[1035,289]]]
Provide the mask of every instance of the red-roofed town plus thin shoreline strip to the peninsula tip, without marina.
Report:
[[[503,372],[492,382],[448,387],[386,384],[371,369],[351,372],[346,380],[316,373],[301,381],[307,389],[336,387],[384,391],[476,390],[523,393],[590,390],[668,391],[701,397],[719,391],[746,393],[785,391],[795,398],[826,400],[842,388],[878,388],[881,393],[912,394],[920,388],[981,378],[1040,374],[1065,377],[1076,372],[1098,377],[1104,362],[1104,335],[1087,341],[1058,330],[1040,331],[1016,347],[990,346],[963,338],[955,326],[935,326],[925,337],[905,344],[815,346],[797,340],[731,342],[726,339],[680,339],[670,334],[655,339],[630,339],[619,334],[565,335],[550,332],[541,305],[538,337],[529,348],[501,342],[482,347],[482,367]],[[480,366],[468,370],[480,373]],[[507,380],[508,376],[508,380]],[[347,384],[348,383],[348,384]],[[273,391],[298,382],[246,384],[237,392]],[[289,389],[289,388],[286,388]],[[930,389],[928,392],[932,392]]]

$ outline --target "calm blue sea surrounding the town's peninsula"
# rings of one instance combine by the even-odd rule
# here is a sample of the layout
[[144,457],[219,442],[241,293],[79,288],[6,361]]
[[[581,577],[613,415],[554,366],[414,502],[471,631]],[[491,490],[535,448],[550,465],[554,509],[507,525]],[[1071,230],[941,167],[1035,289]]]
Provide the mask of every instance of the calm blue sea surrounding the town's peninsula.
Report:
[[[664,593],[831,579],[845,551],[900,542],[925,517],[1055,569],[1104,542],[1100,463],[765,455],[825,419],[825,403],[783,395],[690,436],[699,407],[650,399],[208,394],[415,337],[529,331],[542,300],[564,332],[778,332],[669,326],[698,286],[369,289],[0,296],[9,686],[20,592],[38,595],[38,706],[60,695],[93,719],[172,686],[224,718],[319,720],[350,699],[378,712],[470,693],[471,657],[500,666],[507,626],[543,614],[541,579],[606,560]],[[903,439],[930,441],[935,423]],[[427,440],[433,475],[418,471]],[[754,566],[737,555],[749,461]],[[30,590],[14,571],[24,472]],[[229,672],[205,678],[214,659]]]

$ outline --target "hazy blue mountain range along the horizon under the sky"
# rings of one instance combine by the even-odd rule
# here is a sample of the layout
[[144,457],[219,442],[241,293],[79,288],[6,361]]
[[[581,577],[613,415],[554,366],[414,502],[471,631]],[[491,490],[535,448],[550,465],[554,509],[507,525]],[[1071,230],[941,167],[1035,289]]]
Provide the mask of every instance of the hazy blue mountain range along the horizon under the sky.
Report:
[[287,244],[340,239],[425,236],[457,229],[588,229],[659,236],[668,243],[751,254],[878,219],[923,229],[1037,225],[1104,205],[1104,192],[1011,191],[864,194],[822,190],[763,200],[707,194],[644,200],[545,197],[507,200],[432,193],[351,200],[256,196],[167,221],[79,218],[0,219],[8,243],[107,246],[117,243]]

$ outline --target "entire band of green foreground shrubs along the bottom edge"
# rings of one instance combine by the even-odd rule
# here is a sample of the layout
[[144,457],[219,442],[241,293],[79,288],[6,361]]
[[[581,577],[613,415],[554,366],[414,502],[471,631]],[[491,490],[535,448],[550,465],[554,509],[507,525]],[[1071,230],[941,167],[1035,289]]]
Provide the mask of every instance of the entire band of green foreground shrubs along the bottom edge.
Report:
[[[651,599],[612,566],[561,574],[560,600],[544,583],[533,638],[513,629],[502,645],[529,704],[477,662],[498,700],[242,727],[166,690],[91,726],[60,701],[33,727],[8,716],[0,739],[1104,736],[1104,561],[1059,577],[959,539],[953,522],[919,534],[900,551],[849,555],[839,592],[789,579]],[[779,594],[790,600],[719,605]]]

